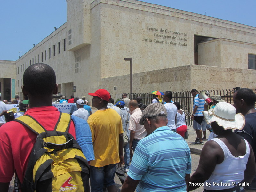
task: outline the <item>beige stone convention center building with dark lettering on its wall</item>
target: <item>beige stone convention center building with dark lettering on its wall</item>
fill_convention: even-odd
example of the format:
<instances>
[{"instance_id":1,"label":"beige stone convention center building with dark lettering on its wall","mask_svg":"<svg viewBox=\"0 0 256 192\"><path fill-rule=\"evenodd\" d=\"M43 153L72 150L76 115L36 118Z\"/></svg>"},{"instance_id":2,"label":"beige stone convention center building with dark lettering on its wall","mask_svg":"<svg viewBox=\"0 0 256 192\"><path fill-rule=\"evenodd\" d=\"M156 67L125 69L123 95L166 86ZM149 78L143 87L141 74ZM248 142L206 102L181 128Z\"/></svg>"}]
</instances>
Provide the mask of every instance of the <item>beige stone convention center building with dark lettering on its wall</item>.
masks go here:
<instances>
[{"instance_id":1,"label":"beige stone convention center building with dark lettering on its wall","mask_svg":"<svg viewBox=\"0 0 256 192\"><path fill-rule=\"evenodd\" d=\"M24 69L43 62L67 98L105 88L116 99L130 92L131 57L133 93L256 88L255 55L255 27L136 0L67 0L67 22L9 78L21 94Z\"/></svg>"}]
</instances>

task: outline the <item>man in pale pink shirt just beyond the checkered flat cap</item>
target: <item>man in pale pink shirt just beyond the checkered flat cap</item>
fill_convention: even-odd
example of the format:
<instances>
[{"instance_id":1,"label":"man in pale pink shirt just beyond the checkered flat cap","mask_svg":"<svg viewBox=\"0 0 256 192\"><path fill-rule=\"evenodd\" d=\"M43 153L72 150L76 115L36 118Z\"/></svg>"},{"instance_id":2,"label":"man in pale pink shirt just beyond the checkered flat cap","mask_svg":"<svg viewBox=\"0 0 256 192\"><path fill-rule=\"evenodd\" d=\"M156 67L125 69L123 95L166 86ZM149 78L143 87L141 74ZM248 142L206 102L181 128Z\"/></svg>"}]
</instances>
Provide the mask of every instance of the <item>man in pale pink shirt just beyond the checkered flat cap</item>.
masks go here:
<instances>
[{"instance_id":1,"label":"man in pale pink shirt just beyond the checkered flat cap","mask_svg":"<svg viewBox=\"0 0 256 192\"><path fill-rule=\"evenodd\" d=\"M139 124L142 112L136 100L131 100L129 102L129 109L132 113L132 115L130 116L130 122L129 122L129 130L131 131L130 132L130 149L133 149L133 151L135 151L135 148L138 142L144 137L146 137L147 131L145 130L144 125Z\"/></svg>"}]
</instances>

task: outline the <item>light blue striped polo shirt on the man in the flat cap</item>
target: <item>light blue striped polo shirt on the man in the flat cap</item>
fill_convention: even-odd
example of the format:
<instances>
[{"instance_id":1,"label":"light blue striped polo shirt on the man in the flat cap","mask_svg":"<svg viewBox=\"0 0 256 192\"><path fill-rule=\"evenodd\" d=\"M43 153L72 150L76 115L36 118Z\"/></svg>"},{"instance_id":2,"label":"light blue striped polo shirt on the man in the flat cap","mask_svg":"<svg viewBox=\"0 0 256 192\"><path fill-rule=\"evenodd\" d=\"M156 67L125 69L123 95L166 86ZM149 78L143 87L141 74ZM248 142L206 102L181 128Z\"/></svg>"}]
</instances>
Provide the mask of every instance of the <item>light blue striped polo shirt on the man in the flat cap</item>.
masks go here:
<instances>
[{"instance_id":1,"label":"light blue striped polo shirt on the man in the flat cap","mask_svg":"<svg viewBox=\"0 0 256 192\"><path fill-rule=\"evenodd\" d=\"M185 192L185 174L190 173L188 144L179 134L164 126L139 141L127 174L140 180L137 192Z\"/></svg>"}]
</instances>

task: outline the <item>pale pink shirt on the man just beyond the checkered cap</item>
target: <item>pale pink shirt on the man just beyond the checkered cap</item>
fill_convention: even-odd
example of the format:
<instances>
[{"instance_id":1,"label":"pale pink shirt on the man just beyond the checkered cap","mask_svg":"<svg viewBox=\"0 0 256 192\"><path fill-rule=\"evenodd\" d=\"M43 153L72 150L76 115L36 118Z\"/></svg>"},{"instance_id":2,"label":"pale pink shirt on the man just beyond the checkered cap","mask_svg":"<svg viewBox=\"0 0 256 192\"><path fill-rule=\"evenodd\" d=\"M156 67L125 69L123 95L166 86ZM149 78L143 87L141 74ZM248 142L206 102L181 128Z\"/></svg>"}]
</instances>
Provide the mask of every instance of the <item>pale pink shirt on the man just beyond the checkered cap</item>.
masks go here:
<instances>
[{"instance_id":1,"label":"pale pink shirt on the man just beyond the checkered cap","mask_svg":"<svg viewBox=\"0 0 256 192\"><path fill-rule=\"evenodd\" d=\"M140 108L134 109L129 121L129 130L135 131L134 139L139 140L143 139L147 135L144 125L139 124L141 116L142 112Z\"/></svg>"}]
</instances>

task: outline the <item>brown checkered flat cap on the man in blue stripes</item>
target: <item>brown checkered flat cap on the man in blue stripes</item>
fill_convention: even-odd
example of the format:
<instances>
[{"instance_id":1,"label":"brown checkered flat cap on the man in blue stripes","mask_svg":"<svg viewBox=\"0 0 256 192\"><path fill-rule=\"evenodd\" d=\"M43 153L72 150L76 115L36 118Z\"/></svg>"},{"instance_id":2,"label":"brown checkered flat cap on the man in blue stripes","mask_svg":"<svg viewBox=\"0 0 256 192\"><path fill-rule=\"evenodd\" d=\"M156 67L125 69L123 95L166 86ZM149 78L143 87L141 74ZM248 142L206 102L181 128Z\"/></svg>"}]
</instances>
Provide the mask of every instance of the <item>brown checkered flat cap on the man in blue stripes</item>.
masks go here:
<instances>
[{"instance_id":1,"label":"brown checkered flat cap on the man in blue stripes","mask_svg":"<svg viewBox=\"0 0 256 192\"><path fill-rule=\"evenodd\" d=\"M152 103L148 105L142 112L142 116L140 118L139 123L143 125L144 119L155 116L167 116L166 108L162 103Z\"/></svg>"}]
</instances>

